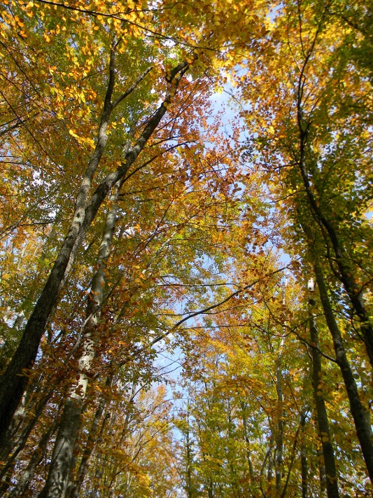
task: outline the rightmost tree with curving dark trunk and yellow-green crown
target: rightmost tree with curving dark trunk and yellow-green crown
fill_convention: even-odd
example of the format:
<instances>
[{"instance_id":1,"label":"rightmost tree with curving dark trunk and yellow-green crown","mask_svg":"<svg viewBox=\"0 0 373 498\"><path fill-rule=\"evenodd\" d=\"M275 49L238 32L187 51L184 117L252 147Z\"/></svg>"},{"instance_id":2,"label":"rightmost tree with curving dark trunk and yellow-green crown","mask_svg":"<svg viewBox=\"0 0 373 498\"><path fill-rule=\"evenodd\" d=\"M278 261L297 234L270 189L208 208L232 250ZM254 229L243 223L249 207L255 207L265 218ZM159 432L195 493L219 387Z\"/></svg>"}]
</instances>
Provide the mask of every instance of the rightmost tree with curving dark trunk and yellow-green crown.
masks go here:
<instances>
[{"instance_id":1,"label":"rightmost tree with curving dark trunk and yellow-green crown","mask_svg":"<svg viewBox=\"0 0 373 498\"><path fill-rule=\"evenodd\" d=\"M372 237L365 217L370 202L366 183L371 174L366 154L369 133L363 133L361 141L356 139L360 135L358 123L370 119L371 91L367 67L356 64L351 23L343 14L337 14L339 7L331 7L328 2L298 2L279 9L269 25L271 40L263 43L272 80L268 78L262 88L244 83L242 91L244 96L257 92L257 99L258 92L265 96L248 118L251 132L257 134L253 141L260 144L259 161L265 164L267 174L270 172L279 182L274 191L281 202L285 200L283 212L290 219L292 243L298 246L295 251L302 255L305 268L307 261L311 262L323 288L319 290L335 345L335 359L344 375L372 479L370 424L365 424L366 408L351 366L356 358L351 344L355 339L351 333L342 338L342 325L338 324L325 284L325 279L332 282L335 306L346 320L351 320L356 338L372 364L371 268L370 261L359 254L362 247L362 254L370 254ZM356 9L365 11L358 4ZM288 41L283 44L285 33ZM363 44L367 39L359 33L358 43ZM284 57L292 61L286 70ZM357 78L360 85L353 83ZM275 99L275 95L281 98ZM346 348L353 354L352 360Z\"/></svg>"}]
</instances>

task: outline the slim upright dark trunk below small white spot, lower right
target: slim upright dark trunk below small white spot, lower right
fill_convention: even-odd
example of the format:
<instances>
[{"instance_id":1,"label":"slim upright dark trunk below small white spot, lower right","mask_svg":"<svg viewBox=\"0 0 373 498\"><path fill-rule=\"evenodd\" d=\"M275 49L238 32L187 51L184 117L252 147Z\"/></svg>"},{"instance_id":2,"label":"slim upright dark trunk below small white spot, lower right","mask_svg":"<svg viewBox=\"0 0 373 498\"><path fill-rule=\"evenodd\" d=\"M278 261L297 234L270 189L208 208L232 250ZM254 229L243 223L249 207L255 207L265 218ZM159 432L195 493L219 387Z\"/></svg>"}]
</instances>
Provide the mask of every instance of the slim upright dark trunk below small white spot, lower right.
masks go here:
<instances>
[{"instance_id":1,"label":"slim upright dark trunk below small white spot, lower right","mask_svg":"<svg viewBox=\"0 0 373 498\"><path fill-rule=\"evenodd\" d=\"M312 300L309 300L311 307ZM326 411L325 401L323 398L323 380L321 370L321 354L318 350L318 331L316 328L315 318L310 310L309 314L309 331L311 336L311 355L312 355L312 385L314 387L314 399L316 406L316 420L318 426L318 435L323 448L323 457L326 473L326 491L328 498L339 498L337 469L335 467L335 454L332 441L330 438L328 413Z\"/></svg>"}]
</instances>

